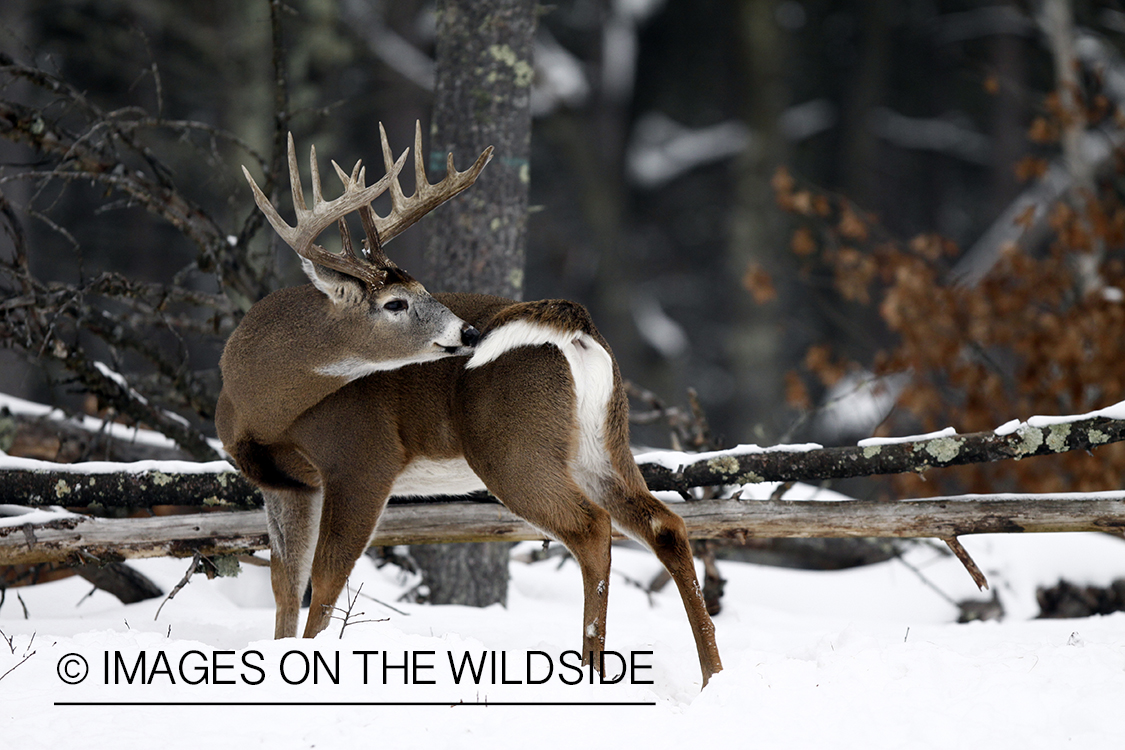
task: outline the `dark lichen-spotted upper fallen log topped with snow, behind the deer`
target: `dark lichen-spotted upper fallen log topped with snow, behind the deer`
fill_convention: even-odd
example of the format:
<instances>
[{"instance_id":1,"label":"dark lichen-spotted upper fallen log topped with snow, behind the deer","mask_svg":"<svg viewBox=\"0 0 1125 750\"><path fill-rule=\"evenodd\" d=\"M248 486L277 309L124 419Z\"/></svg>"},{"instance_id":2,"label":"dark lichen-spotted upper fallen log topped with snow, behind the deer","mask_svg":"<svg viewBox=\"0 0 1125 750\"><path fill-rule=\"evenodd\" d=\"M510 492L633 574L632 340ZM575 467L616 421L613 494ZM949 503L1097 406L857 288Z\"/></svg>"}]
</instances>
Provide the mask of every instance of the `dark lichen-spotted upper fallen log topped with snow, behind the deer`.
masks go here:
<instances>
[{"instance_id":1,"label":"dark lichen-spotted upper fallen log topped with snow, behind the deer","mask_svg":"<svg viewBox=\"0 0 1125 750\"><path fill-rule=\"evenodd\" d=\"M637 457L652 490L763 481L818 481L1092 451L1125 440L1125 404L1065 417L1032 417L991 432L952 430L915 437L871 439L846 448L741 445L711 453L654 451ZM0 457L0 503L89 508L183 505L245 509L261 496L230 463L137 461L60 464Z\"/></svg>"}]
</instances>

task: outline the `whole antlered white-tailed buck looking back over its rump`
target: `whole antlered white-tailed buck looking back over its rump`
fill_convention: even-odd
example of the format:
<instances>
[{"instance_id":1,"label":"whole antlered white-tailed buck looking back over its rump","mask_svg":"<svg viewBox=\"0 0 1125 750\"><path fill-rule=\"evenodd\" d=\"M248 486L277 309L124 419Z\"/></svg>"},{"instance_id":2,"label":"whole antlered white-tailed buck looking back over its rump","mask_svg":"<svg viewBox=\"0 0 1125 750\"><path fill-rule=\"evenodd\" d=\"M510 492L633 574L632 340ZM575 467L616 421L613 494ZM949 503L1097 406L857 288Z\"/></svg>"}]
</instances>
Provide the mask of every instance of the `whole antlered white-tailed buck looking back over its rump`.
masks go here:
<instances>
[{"instance_id":1,"label":"whole antlered white-tailed buck looking back over its rump","mask_svg":"<svg viewBox=\"0 0 1125 750\"><path fill-rule=\"evenodd\" d=\"M364 187L359 162L351 174L332 162L344 188L331 201L310 150L312 208L290 135L294 226L243 168L310 282L254 304L220 359L215 424L266 501L274 638L296 636L309 581L304 636L327 626L390 496L487 490L577 561L584 663L605 649L613 527L655 552L683 600L705 686L722 669L714 625L684 522L649 493L630 451L629 404L609 343L578 304L431 296L395 265L384 244L472 184L492 147L465 172L449 154L447 177L431 184L416 126L416 188L406 198L398 173L407 152L394 161L379 130L385 177ZM371 201L384 192L392 209L380 217ZM344 220L353 211L366 234L361 253ZM341 253L315 244L333 223Z\"/></svg>"}]
</instances>

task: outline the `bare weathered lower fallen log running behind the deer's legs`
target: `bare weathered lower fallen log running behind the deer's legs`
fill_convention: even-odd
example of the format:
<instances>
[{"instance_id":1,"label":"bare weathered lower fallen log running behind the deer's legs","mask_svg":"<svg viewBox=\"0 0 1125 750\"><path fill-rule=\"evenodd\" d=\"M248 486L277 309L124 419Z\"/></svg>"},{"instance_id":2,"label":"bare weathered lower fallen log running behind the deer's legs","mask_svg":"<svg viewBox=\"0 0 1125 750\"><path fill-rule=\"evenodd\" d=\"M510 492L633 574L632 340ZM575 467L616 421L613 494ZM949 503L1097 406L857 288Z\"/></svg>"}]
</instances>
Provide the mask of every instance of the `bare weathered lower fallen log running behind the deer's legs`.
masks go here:
<instances>
[{"instance_id":1,"label":"bare weathered lower fallen log running behind the deer's legs","mask_svg":"<svg viewBox=\"0 0 1125 750\"><path fill-rule=\"evenodd\" d=\"M897 536L1101 531L1125 534L1125 493L976 495L871 500L698 500L675 503L692 539ZM52 516L57 517L52 517ZM151 518L37 513L0 525L0 564L108 562L145 557L244 554L267 549L263 510ZM494 503L390 505L372 544L515 542L542 532Z\"/></svg>"}]
</instances>

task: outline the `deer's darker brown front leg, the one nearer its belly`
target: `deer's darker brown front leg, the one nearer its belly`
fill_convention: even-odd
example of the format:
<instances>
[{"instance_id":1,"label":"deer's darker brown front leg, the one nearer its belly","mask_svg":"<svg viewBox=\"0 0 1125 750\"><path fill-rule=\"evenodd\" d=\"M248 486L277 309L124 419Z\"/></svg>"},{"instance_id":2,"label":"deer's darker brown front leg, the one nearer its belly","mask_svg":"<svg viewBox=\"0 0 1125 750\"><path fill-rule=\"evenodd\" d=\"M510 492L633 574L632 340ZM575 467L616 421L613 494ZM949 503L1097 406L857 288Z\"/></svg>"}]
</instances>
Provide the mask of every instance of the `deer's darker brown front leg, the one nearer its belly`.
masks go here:
<instances>
[{"instance_id":1,"label":"deer's darker brown front leg, the one nearer its belly","mask_svg":"<svg viewBox=\"0 0 1125 750\"><path fill-rule=\"evenodd\" d=\"M356 479L325 482L324 509L312 560L313 599L305 638L313 638L328 626L348 576L375 534L390 485L390 479L374 485Z\"/></svg>"}]
</instances>

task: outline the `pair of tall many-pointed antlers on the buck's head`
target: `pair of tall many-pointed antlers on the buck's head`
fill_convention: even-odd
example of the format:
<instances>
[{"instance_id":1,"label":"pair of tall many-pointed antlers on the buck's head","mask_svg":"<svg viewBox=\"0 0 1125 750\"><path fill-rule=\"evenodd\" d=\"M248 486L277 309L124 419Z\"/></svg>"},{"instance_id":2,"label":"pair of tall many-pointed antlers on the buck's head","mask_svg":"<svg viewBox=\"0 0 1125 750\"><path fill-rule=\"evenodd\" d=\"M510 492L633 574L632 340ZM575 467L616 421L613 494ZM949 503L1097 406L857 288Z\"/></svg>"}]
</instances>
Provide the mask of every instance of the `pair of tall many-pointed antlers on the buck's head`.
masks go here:
<instances>
[{"instance_id":1,"label":"pair of tall many-pointed antlers on the buck's head","mask_svg":"<svg viewBox=\"0 0 1125 750\"><path fill-rule=\"evenodd\" d=\"M245 166L242 168L242 172L246 175L246 181L254 192L254 202L258 204L258 208L266 215L270 226L298 255L320 265L358 278L371 288L381 287L387 278L386 269L395 268L395 264L382 252L382 245L476 182L480 170L492 159L493 153L492 146L485 148L484 153L477 157L476 163L465 172L458 172L453 168L453 155L449 154L446 179L438 184L430 184L422 164L422 126L415 123L414 174L416 187L414 195L406 198L398 183L398 173L402 171L403 164L406 163L406 154L410 150L404 151L402 156L394 161L390 146L387 143L387 133L382 129L381 123L379 124L379 139L382 144L382 161L387 170L382 179L370 187L364 187L366 168L361 166L361 162L356 162L350 175L339 164L332 162L336 175L344 186L344 192L335 200L328 201L324 200L321 189L321 174L316 165L316 147L312 147L309 150L309 168L313 177L313 207L308 208L305 205L305 193L300 187L297 151L294 146L292 134L289 134L289 183L292 188L294 210L297 214L296 226L289 226L281 218L266 193L254 182L250 171ZM380 217L371 208L371 201L386 192L388 188L390 189L390 214ZM352 249L351 235L344 222L344 216L354 210L360 213L363 231L367 234L364 256L357 255ZM333 222L340 226L344 250L342 254L330 253L315 244L320 234Z\"/></svg>"}]
</instances>

